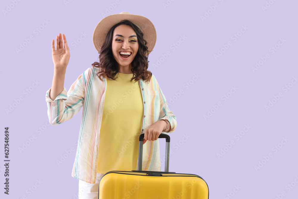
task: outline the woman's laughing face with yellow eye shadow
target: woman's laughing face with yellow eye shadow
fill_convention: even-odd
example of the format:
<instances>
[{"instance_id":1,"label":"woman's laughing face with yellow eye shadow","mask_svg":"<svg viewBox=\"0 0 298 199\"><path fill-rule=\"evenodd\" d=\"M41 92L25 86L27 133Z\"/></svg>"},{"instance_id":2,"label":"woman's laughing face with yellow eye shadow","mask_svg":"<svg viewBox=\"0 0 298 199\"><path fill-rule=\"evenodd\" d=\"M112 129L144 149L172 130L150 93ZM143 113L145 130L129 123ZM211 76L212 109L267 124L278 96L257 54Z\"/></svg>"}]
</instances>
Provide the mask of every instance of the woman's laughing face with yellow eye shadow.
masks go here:
<instances>
[{"instance_id":1,"label":"woman's laughing face with yellow eye shadow","mask_svg":"<svg viewBox=\"0 0 298 199\"><path fill-rule=\"evenodd\" d=\"M119 64L119 67L123 67L124 70L130 71L132 68L131 62L134 60L138 50L139 42L134 29L128 25L117 26L114 29L112 38L112 52L114 58ZM128 56L127 58L124 58L120 55L120 52L130 52L130 55L122 55L125 57Z\"/></svg>"}]
</instances>

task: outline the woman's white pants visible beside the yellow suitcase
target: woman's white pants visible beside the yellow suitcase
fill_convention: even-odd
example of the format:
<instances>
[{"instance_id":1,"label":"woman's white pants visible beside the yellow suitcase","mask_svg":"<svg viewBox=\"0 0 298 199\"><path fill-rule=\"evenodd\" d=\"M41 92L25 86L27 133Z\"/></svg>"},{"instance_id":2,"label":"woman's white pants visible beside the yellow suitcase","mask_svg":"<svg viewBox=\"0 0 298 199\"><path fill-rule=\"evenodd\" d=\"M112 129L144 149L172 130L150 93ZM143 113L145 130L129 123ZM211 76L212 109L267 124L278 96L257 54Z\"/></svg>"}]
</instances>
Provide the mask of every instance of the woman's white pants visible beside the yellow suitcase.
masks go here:
<instances>
[{"instance_id":1,"label":"woman's white pants visible beside the yellow suitcase","mask_svg":"<svg viewBox=\"0 0 298 199\"><path fill-rule=\"evenodd\" d=\"M98 199L98 186L103 173L96 174L95 184L79 180L79 199Z\"/></svg>"}]
</instances>

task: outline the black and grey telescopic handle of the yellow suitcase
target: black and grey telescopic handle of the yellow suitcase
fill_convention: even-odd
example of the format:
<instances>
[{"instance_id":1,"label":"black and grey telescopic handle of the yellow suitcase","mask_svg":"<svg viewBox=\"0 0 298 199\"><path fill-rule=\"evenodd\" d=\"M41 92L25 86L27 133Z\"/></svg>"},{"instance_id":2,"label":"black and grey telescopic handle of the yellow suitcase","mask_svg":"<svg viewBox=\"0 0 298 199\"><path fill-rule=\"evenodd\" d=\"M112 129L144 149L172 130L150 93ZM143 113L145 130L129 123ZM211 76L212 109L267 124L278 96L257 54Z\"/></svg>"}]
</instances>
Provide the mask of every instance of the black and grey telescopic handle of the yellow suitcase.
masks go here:
<instances>
[{"instance_id":1,"label":"black and grey telescopic handle of the yellow suitcase","mask_svg":"<svg viewBox=\"0 0 298 199\"><path fill-rule=\"evenodd\" d=\"M142 171L142 161L143 161L143 140L145 134L142 133L139 137L139 164L138 164L138 171ZM164 163L164 171L169 172L169 157L170 157L170 136L164 133L161 133L158 138L166 138L166 156L165 156L165 163Z\"/></svg>"}]
</instances>

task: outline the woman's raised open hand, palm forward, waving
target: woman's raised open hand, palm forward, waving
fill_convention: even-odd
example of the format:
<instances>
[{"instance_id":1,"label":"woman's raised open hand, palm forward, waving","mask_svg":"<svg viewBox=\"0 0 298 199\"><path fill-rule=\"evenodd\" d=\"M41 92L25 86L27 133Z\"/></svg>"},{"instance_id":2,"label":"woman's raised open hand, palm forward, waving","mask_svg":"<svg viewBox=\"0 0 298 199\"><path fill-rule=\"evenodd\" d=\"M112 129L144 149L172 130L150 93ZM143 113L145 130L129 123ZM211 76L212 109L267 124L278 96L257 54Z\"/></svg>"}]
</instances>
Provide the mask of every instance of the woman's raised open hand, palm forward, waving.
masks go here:
<instances>
[{"instance_id":1,"label":"woman's raised open hand, palm forward, waving","mask_svg":"<svg viewBox=\"0 0 298 199\"><path fill-rule=\"evenodd\" d=\"M63 38L63 40L62 40ZM52 40L52 58L54 67L56 70L66 71L66 67L69 62L70 53L69 47L67 45L66 36L59 33L59 36L56 37L56 48L55 50L55 40Z\"/></svg>"}]
</instances>

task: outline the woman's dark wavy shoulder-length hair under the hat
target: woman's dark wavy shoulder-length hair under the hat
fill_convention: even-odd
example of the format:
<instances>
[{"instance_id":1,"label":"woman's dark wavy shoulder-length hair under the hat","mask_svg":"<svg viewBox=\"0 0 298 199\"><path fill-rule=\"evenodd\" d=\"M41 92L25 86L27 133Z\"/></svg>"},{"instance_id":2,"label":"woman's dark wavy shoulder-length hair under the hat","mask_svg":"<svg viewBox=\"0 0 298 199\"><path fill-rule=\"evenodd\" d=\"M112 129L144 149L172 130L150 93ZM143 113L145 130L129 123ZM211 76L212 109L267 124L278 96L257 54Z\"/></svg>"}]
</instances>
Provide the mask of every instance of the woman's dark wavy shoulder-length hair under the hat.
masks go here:
<instances>
[{"instance_id":1,"label":"woman's dark wavy shoulder-length hair under the hat","mask_svg":"<svg viewBox=\"0 0 298 199\"><path fill-rule=\"evenodd\" d=\"M147 47L147 41L143 38L142 30L137 27L135 24L133 24L131 21L128 20L122 20L118 24L115 24L111 29L109 30L107 36L105 37L105 42L103 43L103 46L98 52L99 60L94 62L92 65L93 68L100 68L101 71L97 73L97 76L101 81L103 81L100 77L103 76L105 78L111 78L113 80L116 80L115 75L119 72L119 64L115 60L113 53L112 53L112 38L114 30L119 25L128 25L134 29L136 32L137 40L139 43L139 50L134 58L134 60L131 62L132 69L131 72L133 73L133 77L131 78L131 81L135 79L136 81L139 81L141 78L146 81L150 81L152 73L148 71L148 47ZM150 51L151 52L151 51Z\"/></svg>"}]
</instances>

